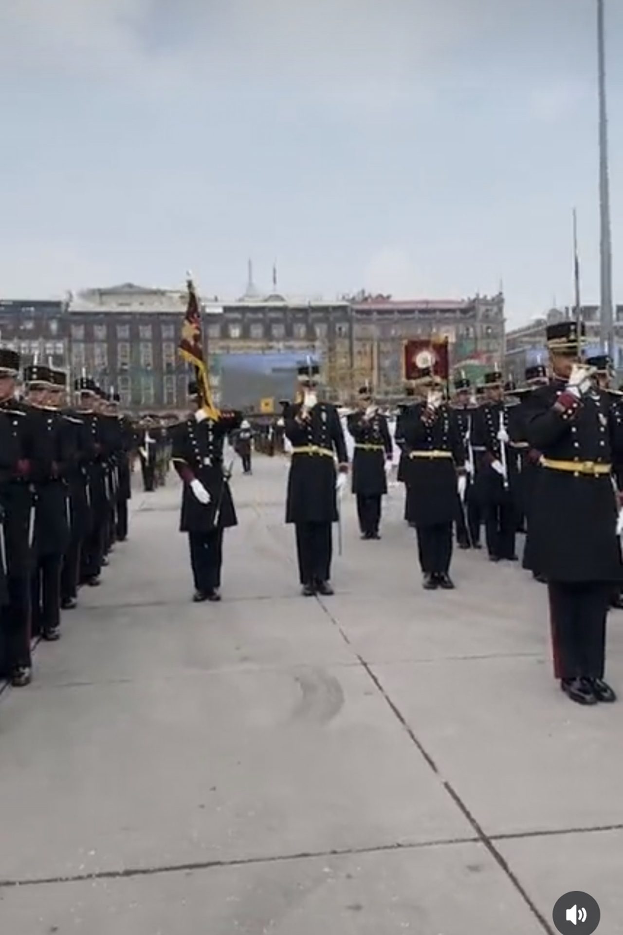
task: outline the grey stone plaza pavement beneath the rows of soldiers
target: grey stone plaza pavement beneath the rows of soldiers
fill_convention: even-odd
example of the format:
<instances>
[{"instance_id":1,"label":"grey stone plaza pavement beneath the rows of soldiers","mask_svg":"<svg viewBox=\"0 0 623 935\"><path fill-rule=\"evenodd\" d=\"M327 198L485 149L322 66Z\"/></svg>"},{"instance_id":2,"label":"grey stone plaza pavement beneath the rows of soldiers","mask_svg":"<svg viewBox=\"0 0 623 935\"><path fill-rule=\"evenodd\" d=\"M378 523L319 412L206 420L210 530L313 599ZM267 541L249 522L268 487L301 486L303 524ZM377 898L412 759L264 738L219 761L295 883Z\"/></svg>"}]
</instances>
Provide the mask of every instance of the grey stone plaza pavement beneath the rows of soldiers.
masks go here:
<instances>
[{"instance_id":1,"label":"grey stone plaza pavement beneath the rows of soldiers","mask_svg":"<svg viewBox=\"0 0 623 935\"><path fill-rule=\"evenodd\" d=\"M460 553L459 589L423 592L396 487L381 542L347 497L337 593L305 600L285 482L235 476L216 606L177 482L135 496L0 698L0 931L538 935L583 889L623 933L623 707L563 698L545 588ZM623 690L619 613L608 671Z\"/></svg>"}]
</instances>

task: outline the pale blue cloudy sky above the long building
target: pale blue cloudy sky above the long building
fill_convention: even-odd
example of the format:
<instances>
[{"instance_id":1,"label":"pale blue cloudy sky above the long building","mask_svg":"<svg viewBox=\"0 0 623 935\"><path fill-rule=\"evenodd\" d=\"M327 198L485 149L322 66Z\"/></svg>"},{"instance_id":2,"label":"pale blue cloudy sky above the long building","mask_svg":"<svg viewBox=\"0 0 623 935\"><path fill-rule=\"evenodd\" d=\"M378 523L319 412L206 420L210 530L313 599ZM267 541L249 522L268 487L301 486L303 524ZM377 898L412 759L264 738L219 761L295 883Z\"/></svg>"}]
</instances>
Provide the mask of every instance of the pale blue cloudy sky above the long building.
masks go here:
<instances>
[{"instance_id":1,"label":"pale blue cloudy sky above the long building","mask_svg":"<svg viewBox=\"0 0 623 935\"><path fill-rule=\"evenodd\" d=\"M606 0L623 302L623 4ZM0 297L599 300L595 0L0 0Z\"/></svg>"}]
</instances>

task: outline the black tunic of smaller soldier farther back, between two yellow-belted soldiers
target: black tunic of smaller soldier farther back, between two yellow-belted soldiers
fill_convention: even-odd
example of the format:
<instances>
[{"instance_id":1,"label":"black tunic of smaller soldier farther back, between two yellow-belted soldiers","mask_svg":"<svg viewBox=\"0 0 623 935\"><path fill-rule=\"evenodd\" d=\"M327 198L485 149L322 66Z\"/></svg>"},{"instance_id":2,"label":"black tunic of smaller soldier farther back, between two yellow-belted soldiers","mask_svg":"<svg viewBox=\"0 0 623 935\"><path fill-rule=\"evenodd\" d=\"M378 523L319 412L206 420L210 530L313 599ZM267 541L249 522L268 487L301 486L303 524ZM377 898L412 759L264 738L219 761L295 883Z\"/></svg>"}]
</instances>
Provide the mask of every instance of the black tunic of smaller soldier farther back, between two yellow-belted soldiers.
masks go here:
<instances>
[{"instance_id":1,"label":"black tunic of smaller soldier farther back, between two yellow-belted soldiers","mask_svg":"<svg viewBox=\"0 0 623 935\"><path fill-rule=\"evenodd\" d=\"M353 412L347 419L348 431L355 441L352 467L352 492L361 496L381 496L388 492L385 462L393 448L388 421L380 412L371 419Z\"/></svg>"}]
</instances>

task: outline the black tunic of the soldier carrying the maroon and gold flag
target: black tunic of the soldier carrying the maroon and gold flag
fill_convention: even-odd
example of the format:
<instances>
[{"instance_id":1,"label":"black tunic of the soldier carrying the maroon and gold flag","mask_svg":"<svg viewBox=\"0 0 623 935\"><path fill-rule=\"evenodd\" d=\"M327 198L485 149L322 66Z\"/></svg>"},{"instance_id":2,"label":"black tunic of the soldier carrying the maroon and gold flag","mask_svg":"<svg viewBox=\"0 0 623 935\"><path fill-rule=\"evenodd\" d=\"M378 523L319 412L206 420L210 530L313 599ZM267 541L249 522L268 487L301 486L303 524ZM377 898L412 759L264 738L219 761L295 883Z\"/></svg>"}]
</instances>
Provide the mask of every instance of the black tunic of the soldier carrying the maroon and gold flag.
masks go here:
<instances>
[{"instance_id":1,"label":"black tunic of the soldier carrying the maroon and gold flag","mask_svg":"<svg viewBox=\"0 0 623 935\"><path fill-rule=\"evenodd\" d=\"M173 464L184 482L180 532L212 532L237 525L234 500L223 470L223 444L242 422L240 412L221 412L218 421L197 422L192 415L171 429ZM211 496L201 503L192 493L191 482L201 481Z\"/></svg>"}]
</instances>

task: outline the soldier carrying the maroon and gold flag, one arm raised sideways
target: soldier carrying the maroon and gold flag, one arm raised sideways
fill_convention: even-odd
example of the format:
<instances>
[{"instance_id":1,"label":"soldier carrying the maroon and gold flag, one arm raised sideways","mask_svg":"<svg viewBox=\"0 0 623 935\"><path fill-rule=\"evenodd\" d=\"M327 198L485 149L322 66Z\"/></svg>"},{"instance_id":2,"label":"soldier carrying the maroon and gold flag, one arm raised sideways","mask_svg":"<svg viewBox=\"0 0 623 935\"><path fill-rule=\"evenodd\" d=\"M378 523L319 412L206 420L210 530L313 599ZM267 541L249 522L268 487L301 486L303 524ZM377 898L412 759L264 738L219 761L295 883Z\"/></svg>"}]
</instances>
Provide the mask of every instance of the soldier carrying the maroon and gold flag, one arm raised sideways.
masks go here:
<instances>
[{"instance_id":1,"label":"soldier carrying the maroon and gold flag, one arm raised sideways","mask_svg":"<svg viewBox=\"0 0 623 935\"><path fill-rule=\"evenodd\" d=\"M173 464L184 483L179 528L189 537L192 599L218 601L223 529L237 525L223 445L242 422L242 414L221 411L214 421L201 407L196 383L189 385L189 396L197 400L197 410L171 429Z\"/></svg>"}]
</instances>

